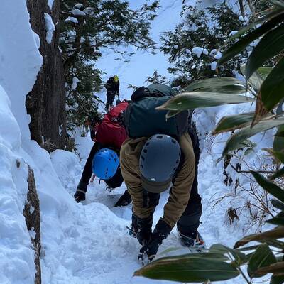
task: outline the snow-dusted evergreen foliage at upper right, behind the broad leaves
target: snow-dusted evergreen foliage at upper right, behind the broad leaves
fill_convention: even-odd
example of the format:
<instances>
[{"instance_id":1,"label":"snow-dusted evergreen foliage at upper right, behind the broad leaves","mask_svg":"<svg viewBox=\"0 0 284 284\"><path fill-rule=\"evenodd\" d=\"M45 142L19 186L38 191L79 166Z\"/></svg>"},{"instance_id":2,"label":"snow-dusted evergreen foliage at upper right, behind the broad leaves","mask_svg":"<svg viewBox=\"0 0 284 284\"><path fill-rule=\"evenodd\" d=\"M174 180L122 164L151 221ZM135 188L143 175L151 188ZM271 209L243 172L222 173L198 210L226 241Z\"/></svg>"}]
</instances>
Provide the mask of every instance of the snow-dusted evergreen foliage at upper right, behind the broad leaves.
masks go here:
<instances>
[{"instance_id":1,"label":"snow-dusted evergreen foliage at upper right, behind the broad leaves","mask_svg":"<svg viewBox=\"0 0 284 284\"><path fill-rule=\"evenodd\" d=\"M226 48L229 33L239 31L243 26L239 14L228 6L227 1L205 10L185 6L182 16L182 23L161 38L163 45L160 50L169 55L169 61L174 64L169 72L178 77L173 82L174 86L185 87L193 80L213 76L232 76L232 70L239 70L242 64L240 56L220 67L218 72L210 67L212 62L217 61L214 58L217 50ZM205 49L200 58L192 54L191 50L195 47Z\"/></svg>"}]
</instances>

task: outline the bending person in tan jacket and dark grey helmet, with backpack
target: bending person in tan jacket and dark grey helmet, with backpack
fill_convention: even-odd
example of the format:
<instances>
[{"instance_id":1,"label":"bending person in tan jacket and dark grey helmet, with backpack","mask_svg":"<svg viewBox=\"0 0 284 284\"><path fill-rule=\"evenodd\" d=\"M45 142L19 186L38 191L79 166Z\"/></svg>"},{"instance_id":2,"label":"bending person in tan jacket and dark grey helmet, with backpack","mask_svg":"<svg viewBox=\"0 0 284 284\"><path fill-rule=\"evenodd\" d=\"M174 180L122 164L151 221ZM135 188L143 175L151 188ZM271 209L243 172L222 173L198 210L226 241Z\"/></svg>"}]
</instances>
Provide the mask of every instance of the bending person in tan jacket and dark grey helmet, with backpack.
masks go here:
<instances>
[{"instance_id":1,"label":"bending person in tan jacket and dark grey helmet, with backpack","mask_svg":"<svg viewBox=\"0 0 284 284\"><path fill-rule=\"evenodd\" d=\"M155 109L173 95L165 85L141 87L133 93L133 102L124 114L129 138L121 146L120 163L133 202L131 232L142 246L138 258L149 261L175 224L183 245L204 247L197 231L202 214L197 188L197 133L188 124L187 111L165 121L166 111ZM170 196L163 217L152 232L160 193L168 189Z\"/></svg>"}]
</instances>

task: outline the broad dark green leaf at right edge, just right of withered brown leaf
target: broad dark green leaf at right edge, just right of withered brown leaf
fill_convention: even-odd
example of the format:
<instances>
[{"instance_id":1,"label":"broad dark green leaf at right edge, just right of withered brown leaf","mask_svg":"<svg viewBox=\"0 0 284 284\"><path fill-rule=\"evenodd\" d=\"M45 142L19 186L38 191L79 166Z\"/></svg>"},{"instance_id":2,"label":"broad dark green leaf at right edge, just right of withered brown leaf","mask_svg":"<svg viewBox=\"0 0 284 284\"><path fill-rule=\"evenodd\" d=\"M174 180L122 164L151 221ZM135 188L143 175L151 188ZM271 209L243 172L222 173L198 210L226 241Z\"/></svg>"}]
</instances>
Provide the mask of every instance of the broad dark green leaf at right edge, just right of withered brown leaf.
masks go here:
<instances>
[{"instance_id":1,"label":"broad dark green leaf at right edge, just right of withered brown leaf","mask_svg":"<svg viewBox=\"0 0 284 284\"><path fill-rule=\"evenodd\" d=\"M266 80L264 80L261 85L260 96L261 102L267 111L271 111L284 98L284 58L278 61Z\"/></svg>"}]
</instances>

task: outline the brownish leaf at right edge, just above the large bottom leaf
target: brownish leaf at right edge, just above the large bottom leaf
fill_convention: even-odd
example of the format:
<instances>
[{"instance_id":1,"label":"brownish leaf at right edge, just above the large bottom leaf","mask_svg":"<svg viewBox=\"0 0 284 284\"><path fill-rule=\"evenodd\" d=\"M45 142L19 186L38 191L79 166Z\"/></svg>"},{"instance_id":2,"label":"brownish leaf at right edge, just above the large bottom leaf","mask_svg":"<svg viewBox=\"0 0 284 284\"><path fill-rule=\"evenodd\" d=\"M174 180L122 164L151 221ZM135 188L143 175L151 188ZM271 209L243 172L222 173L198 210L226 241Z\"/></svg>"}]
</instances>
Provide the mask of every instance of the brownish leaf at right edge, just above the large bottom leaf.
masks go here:
<instances>
[{"instance_id":1,"label":"brownish leaf at right edge, just above the large bottom leaf","mask_svg":"<svg viewBox=\"0 0 284 284\"><path fill-rule=\"evenodd\" d=\"M239 248L239 246L244 246L245 244L248 244L250 241L265 241L269 245L274 245L273 242L277 241L275 239L280 239L284 237L284 228L282 226L278 226L275 229L272 229L270 231L265 231L261 234L251 234L249 236L244 236L243 239L240 239L236 242L234 245L234 249ZM276 247L282 248L282 244L279 241L275 243Z\"/></svg>"}]
</instances>

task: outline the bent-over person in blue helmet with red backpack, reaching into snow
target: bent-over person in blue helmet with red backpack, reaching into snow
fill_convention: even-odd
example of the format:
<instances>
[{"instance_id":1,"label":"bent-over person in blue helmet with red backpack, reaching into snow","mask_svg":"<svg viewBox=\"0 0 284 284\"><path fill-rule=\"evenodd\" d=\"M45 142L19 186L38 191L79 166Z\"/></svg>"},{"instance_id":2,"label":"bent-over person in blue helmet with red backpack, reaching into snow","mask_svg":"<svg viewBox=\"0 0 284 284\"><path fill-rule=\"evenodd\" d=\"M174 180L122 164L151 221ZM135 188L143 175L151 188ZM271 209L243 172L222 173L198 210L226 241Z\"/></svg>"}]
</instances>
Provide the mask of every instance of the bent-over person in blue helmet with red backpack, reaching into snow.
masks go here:
<instances>
[{"instance_id":1,"label":"bent-over person in blue helmet with red backpack, reaching into snow","mask_svg":"<svg viewBox=\"0 0 284 284\"><path fill-rule=\"evenodd\" d=\"M119 115L121 111L126 109L127 105L127 102L121 102L108 114L105 114L104 119L97 118L87 121L88 125L92 124L91 137L94 146L92 146L80 182L77 185L74 195L77 202L85 200L87 186L92 174L100 180L104 180L107 187L111 189L120 187L124 182L119 166L119 150L127 136L124 126L121 126L119 122ZM130 202L131 196L126 190L114 207L126 206Z\"/></svg>"}]
</instances>

